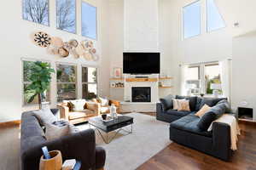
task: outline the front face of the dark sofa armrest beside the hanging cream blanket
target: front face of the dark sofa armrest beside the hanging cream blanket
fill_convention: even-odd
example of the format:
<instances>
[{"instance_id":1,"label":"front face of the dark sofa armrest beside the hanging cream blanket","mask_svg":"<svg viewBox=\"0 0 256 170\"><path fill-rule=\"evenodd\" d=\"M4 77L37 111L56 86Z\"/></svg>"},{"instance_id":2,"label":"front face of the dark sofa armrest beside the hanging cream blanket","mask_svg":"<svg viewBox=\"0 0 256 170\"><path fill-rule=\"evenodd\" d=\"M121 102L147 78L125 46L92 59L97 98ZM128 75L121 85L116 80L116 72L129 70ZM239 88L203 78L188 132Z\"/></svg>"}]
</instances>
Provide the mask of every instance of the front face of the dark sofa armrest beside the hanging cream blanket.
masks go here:
<instances>
[{"instance_id":1,"label":"front face of the dark sofa armrest beside the hanging cream blanket","mask_svg":"<svg viewBox=\"0 0 256 170\"><path fill-rule=\"evenodd\" d=\"M230 125L223 122L212 122L212 146L218 156L228 161L231 156Z\"/></svg>"}]
</instances>

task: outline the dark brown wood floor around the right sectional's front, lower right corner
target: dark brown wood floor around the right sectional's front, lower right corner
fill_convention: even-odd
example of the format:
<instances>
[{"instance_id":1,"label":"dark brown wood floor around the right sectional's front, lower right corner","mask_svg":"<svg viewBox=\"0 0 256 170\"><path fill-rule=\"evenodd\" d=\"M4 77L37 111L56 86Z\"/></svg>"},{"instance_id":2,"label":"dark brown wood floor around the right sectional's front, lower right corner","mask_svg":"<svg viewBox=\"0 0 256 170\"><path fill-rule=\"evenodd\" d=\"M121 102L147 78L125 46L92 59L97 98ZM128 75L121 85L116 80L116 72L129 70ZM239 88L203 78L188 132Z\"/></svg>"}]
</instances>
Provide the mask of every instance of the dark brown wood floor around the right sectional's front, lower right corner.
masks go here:
<instances>
[{"instance_id":1,"label":"dark brown wood floor around the right sectional's front, lower right corner","mask_svg":"<svg viewBox=\"0 0 256 170\"><path fill-rule=\"evenodd\" d=\"M230 162L172 143L137 170L256 170L256 125L240 123L238 150Z\"/></svg>"}]
</instances>

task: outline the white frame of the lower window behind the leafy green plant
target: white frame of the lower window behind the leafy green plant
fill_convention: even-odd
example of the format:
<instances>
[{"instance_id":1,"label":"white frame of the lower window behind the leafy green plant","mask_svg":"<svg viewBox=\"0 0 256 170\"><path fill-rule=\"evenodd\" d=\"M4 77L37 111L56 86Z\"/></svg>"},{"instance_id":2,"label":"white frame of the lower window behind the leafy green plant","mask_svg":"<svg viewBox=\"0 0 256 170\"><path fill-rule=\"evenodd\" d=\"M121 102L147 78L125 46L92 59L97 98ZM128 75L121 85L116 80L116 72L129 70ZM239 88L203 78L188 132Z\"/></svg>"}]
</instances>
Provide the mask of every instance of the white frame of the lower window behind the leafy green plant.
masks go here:
<instances>
[{"instance_id":1,"label":"white frame of the lower window behind the leafy green plant","mask_svg":"<svg viewBox=\"0 0 256 170\"><path fill-rule=\"evenodd\" d=\"M46 60L46 59L33 59L33 58L21 58L20 61L21 61L21 82L22 82L22 85L21 85L22 105L21 106L28 107L28 106L38 105L38 104L25 104L24 87L25 87L25 84L28 84L29 82L24 81L24 61L31 61L31 62L41 61L41 62L47 62L50 65L51 65L51 62L50 62L50 60ZM46 101L46 102L49 102L49 105L51 104L51 98L50 98L51 89L50 88L51 88L51 82L49 83L49 101Z\"/></svg>"}]
</instances>

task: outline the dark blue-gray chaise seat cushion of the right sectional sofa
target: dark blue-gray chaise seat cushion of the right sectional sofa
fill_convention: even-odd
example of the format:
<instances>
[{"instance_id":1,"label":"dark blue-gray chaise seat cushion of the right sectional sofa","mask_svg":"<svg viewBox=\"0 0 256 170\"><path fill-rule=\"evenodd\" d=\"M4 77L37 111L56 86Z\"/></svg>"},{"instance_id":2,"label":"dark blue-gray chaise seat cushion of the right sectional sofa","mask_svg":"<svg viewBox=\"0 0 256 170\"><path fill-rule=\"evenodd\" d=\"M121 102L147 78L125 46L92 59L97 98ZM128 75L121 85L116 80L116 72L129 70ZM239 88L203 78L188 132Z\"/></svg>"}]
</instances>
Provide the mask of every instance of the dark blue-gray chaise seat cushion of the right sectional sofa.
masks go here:
<instances>
[{"instance_id":1,"label":"dark blue-gray chaise seat cushion of the right sectional sofa","mask_svg":"<svg viewBox=\"0 0 256 170\"><path fill-rule=\"evenodd\" d=\"M196 133L203 136L211 137L212 132L203 131L197 126L197 123L199 121L200 121L200 118L198 116L189 114L188 116L183 116L177 121L172 122L170 126L177 128L179 130L187 131L189 133Z\"/></svg>"}]
</instances>

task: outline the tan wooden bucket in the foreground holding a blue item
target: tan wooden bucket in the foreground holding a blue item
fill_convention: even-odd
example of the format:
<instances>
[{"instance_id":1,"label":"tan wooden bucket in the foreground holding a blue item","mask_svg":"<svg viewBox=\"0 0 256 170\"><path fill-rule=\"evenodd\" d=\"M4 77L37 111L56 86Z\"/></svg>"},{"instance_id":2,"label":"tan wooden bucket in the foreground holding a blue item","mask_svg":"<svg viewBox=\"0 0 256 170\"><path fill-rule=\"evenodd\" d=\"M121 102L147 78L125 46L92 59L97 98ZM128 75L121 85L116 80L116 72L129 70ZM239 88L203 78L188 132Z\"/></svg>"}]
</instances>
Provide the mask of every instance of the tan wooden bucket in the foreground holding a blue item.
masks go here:
<instances>
[{"instance_id":1,"label":"tan wooden bucket in the foreground holding a blue item","mask_svg":"<svg viewBox=\"0 0 256 170\"><path fill-rule=\"evenodd\" d=\"M50 159L44 159L41 156L39 170L61 170L62 169L62 156L61 151L53 150L49 152Z\"/></svg>"}]
</instances>

